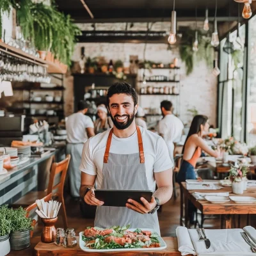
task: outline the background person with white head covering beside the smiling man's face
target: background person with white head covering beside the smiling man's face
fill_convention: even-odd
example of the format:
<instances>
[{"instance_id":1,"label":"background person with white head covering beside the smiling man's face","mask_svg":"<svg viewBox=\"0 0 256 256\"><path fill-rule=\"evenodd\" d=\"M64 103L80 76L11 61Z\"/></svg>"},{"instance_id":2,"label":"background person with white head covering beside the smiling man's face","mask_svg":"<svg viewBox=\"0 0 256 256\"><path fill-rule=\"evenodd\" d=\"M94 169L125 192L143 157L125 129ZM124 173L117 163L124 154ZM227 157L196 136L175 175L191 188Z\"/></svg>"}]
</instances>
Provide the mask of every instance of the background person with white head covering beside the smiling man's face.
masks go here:
<instances>
[{"instance_id":1,"label":"background person with white head covering beside the smiling man's face","mask_svg":"<svg viewBox=\"0 0 256 256\"><path fill-rule=\"evenodd\" d=\"M99 116L99 118L97 118L94 123L95 134L107 131L108 129L113 127L111 117L108 116L108 109L104 104L100 104L97 107L97 115Z\"/></svg>"}]
</instances>

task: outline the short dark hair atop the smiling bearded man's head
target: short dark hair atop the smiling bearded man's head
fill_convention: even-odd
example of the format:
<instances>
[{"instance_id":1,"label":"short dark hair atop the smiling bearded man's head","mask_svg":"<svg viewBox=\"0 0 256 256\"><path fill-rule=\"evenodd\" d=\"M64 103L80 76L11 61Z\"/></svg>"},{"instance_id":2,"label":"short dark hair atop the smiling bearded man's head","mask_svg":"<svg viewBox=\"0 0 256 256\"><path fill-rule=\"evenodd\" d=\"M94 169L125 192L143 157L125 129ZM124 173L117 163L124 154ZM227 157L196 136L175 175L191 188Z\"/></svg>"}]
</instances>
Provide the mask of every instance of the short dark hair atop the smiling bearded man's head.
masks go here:
<instances>
[{"instance_id":1,"label":"short dark hair atop the smiling bearded man's head","mask_svg":"<svg viewBox=\"0 0 256 256\"><path fill-rule=\"evenodd\" d=\"M134 106L138 103L138 95L134 88L131 86L131 84L122 82L122 83L115 83L112 84L109 89L108 89L108 94L107 94L107 102L109 106L109 98L112 97L114 94L120 94L120 93L125 93L129 96L132 97Z\"/></svg>"}]
</instances>

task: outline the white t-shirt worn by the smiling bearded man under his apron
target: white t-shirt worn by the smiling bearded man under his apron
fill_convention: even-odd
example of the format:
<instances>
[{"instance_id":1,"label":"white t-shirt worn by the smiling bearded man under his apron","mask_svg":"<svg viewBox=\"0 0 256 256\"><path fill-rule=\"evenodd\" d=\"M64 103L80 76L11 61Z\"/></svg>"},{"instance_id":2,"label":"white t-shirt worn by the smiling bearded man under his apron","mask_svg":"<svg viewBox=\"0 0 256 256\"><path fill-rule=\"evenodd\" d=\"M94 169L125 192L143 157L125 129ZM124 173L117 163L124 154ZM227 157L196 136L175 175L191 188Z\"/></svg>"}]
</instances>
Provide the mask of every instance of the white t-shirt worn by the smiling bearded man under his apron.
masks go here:
<instances>
[{"instance_id":1,"label":"white t-shirt worn by the smiling bearded man under his apron","mask_svg":"<svg viewBox=\"0 0 256 256\"><path fill-rule=\"evenodd\" d=\"M140 130L145 154L148 188L155 191L156 181L154 179L154 172L163 172L168 170L173 167L173 164L163 138L154 132L143 129L142 127L140 127ZM97 175L96 182L97 188L99 189L102 186L103 158L109 131L110 130L97 134L84 143L82 160L79 166L79 170L81 170L81 172L85 172L90 175ZM138 153L139 146L137 131L128 138L118 138L113 134L109 152L113 154Z\"/></svg>"}]
</instances>

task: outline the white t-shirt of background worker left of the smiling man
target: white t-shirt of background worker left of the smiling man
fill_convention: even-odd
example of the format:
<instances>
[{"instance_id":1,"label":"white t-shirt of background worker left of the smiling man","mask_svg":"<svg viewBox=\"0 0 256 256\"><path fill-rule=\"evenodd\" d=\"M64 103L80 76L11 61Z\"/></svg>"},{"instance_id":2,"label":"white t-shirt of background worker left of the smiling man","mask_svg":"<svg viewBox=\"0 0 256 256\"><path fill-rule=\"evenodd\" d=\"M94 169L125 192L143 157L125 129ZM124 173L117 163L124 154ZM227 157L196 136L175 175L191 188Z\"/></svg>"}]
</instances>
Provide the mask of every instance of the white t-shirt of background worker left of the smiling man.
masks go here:
<instances>
[{"instance_id":1,"label":"white t-shirt of background worker left of the smiling man","mask_svg":"<svg viewBox=\"0 0 256 256\"><path fill-rule=\"evenodd\" d=\"M67 141L68 143L84 143L88 140L86 128L93 128L92 119L83 113L74 113L67 118Z\"/></svg>"}]
</instances>

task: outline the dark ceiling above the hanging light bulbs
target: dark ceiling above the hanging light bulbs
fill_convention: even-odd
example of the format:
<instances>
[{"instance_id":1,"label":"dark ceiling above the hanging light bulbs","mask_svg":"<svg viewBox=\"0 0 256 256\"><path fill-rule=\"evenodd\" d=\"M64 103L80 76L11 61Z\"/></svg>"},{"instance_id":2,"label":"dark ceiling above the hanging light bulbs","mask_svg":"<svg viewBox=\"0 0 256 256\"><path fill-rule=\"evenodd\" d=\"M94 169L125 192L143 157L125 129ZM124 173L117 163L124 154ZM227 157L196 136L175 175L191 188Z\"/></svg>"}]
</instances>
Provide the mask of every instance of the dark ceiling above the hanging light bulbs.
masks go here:
<instances>
[{"instance_id":1,"label":"dark ceiling above the hanging light bulbs","mask_svg":"<svg viewBox=\"0 0 256 256\"><path fill-rule=\"evenodd\" d=\"M82 0L83 1L83 0ZM93 13L92 20L81 0L56 0L59 10L68 13L76 22L136 22L170 20L173 0L84 0ZM233 0L218 0L219 20L237 17L238 5ZM176 0L177 20L195 20L195 7L198 8L198 20L204 18L205 7L209 7L209 17L214 16L214 0ZM243 4L240 4L243 8ZM241 12L239 12L241 13ZM211 19L210 19L211 20Z\"/></svg>"}]
</instances>

